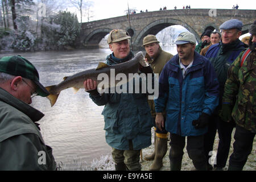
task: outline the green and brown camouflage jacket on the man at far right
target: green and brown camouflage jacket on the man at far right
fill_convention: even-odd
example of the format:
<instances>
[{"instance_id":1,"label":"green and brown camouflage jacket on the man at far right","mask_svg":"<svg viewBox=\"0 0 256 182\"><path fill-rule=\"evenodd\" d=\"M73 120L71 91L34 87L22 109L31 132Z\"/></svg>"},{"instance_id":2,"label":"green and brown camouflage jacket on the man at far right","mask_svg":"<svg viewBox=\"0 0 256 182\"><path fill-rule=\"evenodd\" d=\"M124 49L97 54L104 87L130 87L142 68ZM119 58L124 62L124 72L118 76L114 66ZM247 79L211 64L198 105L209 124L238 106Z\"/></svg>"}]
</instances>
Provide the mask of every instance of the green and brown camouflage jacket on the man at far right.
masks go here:
<instances>
[{"instance_id":1,"label":"green and brown camouflage jacket on the man at far right","mask_svg":"<svg viewBox=\"0 0 256 182\"><path fill-rule=\"evenodd\" d=\"M234 104L232 117L238 126L255 133L256 52L251 52L241 67L242 51L228 70L223 103Z\"/></svg>"}]
</instances>

